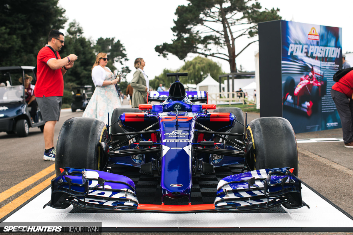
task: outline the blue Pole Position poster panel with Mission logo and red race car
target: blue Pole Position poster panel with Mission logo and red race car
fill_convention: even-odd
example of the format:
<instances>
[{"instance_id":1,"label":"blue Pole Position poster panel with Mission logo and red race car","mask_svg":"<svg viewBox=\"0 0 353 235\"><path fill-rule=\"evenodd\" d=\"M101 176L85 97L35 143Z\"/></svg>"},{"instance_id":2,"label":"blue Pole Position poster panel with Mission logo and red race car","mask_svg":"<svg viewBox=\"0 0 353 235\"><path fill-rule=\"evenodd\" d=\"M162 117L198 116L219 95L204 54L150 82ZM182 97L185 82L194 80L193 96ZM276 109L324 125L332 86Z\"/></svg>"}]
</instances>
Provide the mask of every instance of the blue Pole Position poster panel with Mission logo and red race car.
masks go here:
<instances>
[{"instance_id":1,"label":"blue Pole Position poster panel with Mission logo and red race car","mask_svg":"<svg viewBox=\"0 0 353 235\"><path fill-rule=\"evenodd\" d=\"M282 21L281 32L283 117L296 133L341 128L330 91L342 68L342 29Z\"/></svg>"}]
</instances>

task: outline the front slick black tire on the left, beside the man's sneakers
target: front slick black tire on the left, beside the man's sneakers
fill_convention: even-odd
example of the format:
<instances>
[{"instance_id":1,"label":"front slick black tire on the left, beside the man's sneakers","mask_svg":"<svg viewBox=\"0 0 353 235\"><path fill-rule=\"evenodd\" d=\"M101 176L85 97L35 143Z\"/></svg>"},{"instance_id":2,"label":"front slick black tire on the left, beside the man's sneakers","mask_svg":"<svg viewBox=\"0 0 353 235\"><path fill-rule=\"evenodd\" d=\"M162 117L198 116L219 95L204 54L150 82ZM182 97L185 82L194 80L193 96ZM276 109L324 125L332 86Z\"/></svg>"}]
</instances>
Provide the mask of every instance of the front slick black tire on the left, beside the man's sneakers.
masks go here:
<instances>
[{"instance_id":1,"label":"front slick black tire on the left, beside the man's sneakers","mask_svg":"<svg viewBox=\"0 0 353 235\"><path fill-rule=\"evenodd\" d=\"M64 167L103 170L108 159L104 157L100 142L107 138L107 126L101 120L88 117L67 119L56 144L56 175Z\"/></svg>"}]
</instances>

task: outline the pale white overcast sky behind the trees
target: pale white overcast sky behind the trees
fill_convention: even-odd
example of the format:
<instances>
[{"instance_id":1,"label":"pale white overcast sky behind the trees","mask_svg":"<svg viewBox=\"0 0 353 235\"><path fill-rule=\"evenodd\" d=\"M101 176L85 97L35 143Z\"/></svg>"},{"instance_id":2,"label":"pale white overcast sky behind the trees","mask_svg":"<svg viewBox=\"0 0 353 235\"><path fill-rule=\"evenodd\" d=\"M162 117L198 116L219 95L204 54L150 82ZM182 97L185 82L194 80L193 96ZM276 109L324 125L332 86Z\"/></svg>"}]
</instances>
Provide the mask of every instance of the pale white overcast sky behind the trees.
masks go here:
<instances>
[{"instance_id":1,"label":"pale white overcast sky behind the trees","mask_svg":"<svg viewBox=\"0 0 353 235\"><path fill-rule=\"evenodd\" d=\"M294 20L301 23L326 25L342 28L342 52L353 51L353 26L350 12L352 0L260 0L263 8L279 8L283 20ZM86 38L115 37L124 45L129 61L126 66L132 70L127 76L132 79L135 58L142 57L146 62L145 73L150 79L161 74L164 68L178 69L184 64L174 55L168 59L158 56L154 48L164 42L171 42L176 19L175 9L186 5L186 0L59 0L59 5L66 10L68 22L78 21ZM236 41L238 51L252 39L243 37ZM247 71L255 70L255 52L258 43L253 43L237 57ZM237 52L237 51L236 51ZM189 54L186 60L197 55ZM209 57L211 58L211 57ZM230 72L229 63L211 58L219 62L222 69ZM92 64L94 61L92 61ZM184 72L184 71L183 71ZM187 72L187 71L185 71Z\"/></svg>"}]
</instances>

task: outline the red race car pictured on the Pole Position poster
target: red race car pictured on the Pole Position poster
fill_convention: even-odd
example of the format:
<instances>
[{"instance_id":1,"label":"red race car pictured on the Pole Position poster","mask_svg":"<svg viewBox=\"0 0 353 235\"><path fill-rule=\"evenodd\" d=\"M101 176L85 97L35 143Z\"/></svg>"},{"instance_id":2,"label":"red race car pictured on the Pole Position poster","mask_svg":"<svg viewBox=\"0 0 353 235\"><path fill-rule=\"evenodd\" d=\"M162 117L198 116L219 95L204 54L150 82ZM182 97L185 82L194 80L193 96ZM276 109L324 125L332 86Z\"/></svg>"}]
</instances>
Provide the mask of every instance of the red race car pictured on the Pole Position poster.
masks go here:
<instances>
[{"instance_id":1,"label":"red race car pictured on the Pole Position poster","mask_svg":"<svg viewBox=\"0 0 353 235\"><path fill-rule=\"evenodd\" d=\"M294 78L287 77L284 87L283 105L305 111L307 116L317 112L320 98L326 94L327 79L322 74L314 71L300 78L295 86Z\"/></svg>"}]
</instances>

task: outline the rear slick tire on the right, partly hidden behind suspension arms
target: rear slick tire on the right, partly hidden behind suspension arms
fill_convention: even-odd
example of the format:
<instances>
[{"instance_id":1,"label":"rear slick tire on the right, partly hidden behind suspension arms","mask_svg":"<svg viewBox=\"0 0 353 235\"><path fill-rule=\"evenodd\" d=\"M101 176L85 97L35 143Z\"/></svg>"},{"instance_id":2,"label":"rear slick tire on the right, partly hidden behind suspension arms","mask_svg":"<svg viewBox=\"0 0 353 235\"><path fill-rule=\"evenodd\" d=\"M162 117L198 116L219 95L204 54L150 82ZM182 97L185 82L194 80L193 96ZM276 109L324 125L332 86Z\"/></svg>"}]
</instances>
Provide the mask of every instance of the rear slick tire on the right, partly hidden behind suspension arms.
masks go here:
<instances>
[{"instance_id":1,"label":"rear slick tire on the right, partly hidden behind suspension arms","mask_svg":"<svg viewBox=\"0 0 353 235\"><path fill-rule=\"evenodd\" d=\"M237 118L237 124L235 124L235 126L233 127L233 129L229 132L232 133L238 133L238 134L243 134L245 133L245 127L244 125L244 114L243 111L240 108L218 108L215 109L214 112L217 113L233 113L234 116ZM241 124L243 125L241 125ZM234 140L240 140L243 141L243 137L242 136L228 136L226 137L228 140L233 141ZM216 140L218 141L220 138L216 138ZM220 140L222 143L224 143L224 140Z\"/></svg>"}]
</instances>

